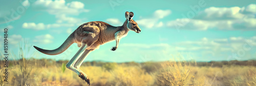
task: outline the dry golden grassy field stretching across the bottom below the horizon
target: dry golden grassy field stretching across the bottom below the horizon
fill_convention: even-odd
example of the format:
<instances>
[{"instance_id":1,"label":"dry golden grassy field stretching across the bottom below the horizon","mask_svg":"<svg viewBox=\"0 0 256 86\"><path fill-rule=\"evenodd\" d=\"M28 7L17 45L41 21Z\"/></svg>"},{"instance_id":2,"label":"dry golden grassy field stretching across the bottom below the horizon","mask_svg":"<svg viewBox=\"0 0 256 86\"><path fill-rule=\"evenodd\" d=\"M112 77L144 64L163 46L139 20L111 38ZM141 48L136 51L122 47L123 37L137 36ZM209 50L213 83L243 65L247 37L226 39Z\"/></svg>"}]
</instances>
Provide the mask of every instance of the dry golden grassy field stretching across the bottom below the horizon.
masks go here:
<instances>
[{"instance_id":1,"label":"dry golden grassy field stretching across the bottom below the horizon","mask_svg":"<svg viewBox=\"0 0 256 86\"><path fill-rule=\"evenodd\" d=\"M256 61L84 62L91 85L256 85ZM10 61L8 82L1 85L87 85L66 69L67 61ZM3 68L1 60L1 69Z\"/></svg>"}]
</instances>

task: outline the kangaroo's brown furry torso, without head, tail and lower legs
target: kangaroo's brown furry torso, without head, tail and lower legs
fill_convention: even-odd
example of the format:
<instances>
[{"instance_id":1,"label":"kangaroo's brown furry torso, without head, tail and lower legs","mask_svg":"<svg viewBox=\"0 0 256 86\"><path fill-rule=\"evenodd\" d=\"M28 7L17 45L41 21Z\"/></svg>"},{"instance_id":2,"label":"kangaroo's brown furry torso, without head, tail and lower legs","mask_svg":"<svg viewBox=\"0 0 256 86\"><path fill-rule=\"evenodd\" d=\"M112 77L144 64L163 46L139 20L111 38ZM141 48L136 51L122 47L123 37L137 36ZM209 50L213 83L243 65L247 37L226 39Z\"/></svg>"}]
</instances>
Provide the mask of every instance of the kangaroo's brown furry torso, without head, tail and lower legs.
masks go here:
<instances>
[{"instance_id":1,"label":"kangaroo's brown furry torso, without head, tail and lower legs","mask_svg":"<svg viewBox=\"0 0 256 86\"><path fill-rule=\"evenodd\" d=\"M87 49L96 49L106 42L115 40L115 33L120 31L119 35L127 34L127 21L120 27L114 27L107 23L96 21L82 24L75 30L74 40L80 47L81 42L85 42Z\"/></svg>"}]
</instances>

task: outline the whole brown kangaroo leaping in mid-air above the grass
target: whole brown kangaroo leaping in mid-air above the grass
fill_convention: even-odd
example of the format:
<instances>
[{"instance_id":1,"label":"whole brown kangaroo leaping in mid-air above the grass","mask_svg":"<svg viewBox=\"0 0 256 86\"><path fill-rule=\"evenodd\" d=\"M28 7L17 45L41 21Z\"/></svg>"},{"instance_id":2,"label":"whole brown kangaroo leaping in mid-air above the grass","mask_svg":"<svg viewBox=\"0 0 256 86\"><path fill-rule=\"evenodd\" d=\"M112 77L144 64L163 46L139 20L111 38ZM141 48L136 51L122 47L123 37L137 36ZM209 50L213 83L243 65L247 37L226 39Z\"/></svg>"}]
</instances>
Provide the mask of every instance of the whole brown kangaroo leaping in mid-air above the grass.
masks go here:
<instances>
[{"instance_id":1,"label":"whole brown kangaroo leaping in mid-air above the grass","mask_svg":"<svg viewBox=\"0 0 256 86\"><path fill-rule=\"evenodd\" d=\"M138 24L133 20L133 12L125 12L125 22L122 26L114 27L104 22L88 22L80 25L64 42L63 44L54 50L45 50L34 46L36 50L47 55L57 55L67 50L74 42L80 49L67 63L66 67L78 74L82 80L90 85L90 79L86 73L82 72L79 68L83 60L88 54L95 49L99 49L100 45L106 42L116 40L116 46L111 50L115 51L118 48L119 41L122 37L125 37L128 31L135 31L140 33L141 29ZM83 52L83 53L82 53ZM78 56L80 56L78 58Z\"/></svg>"}]
</instances>

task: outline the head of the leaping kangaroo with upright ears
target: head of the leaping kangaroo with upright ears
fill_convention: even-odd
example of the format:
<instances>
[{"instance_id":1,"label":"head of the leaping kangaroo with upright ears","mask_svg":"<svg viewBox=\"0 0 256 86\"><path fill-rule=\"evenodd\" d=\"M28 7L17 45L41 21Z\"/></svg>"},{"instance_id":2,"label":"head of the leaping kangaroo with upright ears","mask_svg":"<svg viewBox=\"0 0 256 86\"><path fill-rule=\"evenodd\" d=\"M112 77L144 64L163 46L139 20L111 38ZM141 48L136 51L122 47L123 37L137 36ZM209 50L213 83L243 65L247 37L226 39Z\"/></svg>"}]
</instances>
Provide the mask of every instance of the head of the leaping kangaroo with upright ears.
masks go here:
<instances>
[{"instance_id":1,"label":"head of the leaping kangaroo with upright ears","mask_svg":"<svg viewBox=\"0 0 256 86\"><path fill-rule=\"evenodd\" d=\"M127 20L127 28L129 30L132 30L136 33L140 33L141 32L141 29L140 27L138 26L138 24L133 20L133 12L125 12L125 18Z\"/></svg>"}]
</instances>

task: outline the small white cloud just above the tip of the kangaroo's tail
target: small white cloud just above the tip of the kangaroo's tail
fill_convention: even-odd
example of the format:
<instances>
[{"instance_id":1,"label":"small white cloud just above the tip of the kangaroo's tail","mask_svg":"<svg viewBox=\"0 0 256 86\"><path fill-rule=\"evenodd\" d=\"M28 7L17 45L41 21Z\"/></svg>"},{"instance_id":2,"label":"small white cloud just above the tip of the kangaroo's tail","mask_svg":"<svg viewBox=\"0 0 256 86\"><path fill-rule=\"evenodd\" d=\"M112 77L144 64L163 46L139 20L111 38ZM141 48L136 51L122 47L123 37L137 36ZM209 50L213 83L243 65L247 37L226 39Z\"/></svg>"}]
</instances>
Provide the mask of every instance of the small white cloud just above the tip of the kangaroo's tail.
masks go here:
<instances>
[{"instance_id":1,"label":"small white cloud just above the tip of the kangaroo's tail","mask_svg":"<svg viewBox=\"0 0 256 86\"><path fill-rule=\"evenodd\" d=\"M50 44L54 37L50 34L35 36L33 42L39 44Z\"/></svg>"}]
</instances>

